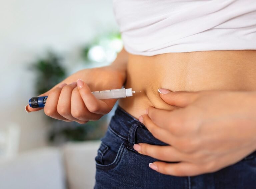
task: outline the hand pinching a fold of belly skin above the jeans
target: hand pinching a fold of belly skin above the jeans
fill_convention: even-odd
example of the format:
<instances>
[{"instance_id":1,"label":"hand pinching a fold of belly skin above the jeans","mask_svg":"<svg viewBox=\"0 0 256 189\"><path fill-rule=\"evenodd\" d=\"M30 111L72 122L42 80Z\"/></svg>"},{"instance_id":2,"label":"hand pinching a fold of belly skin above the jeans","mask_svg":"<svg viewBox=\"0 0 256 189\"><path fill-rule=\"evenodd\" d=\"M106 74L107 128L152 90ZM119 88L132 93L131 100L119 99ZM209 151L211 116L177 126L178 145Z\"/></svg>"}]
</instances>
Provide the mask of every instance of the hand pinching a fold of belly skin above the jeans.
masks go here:
<instances>
[{"instance_id":1,"label":"hand pinching a fold of belly skin above the jeans","mask_svg":"<svg viewBox=\"0 0 256 189\"><path fill-rule=\"evenodd\" d=\"M161 98L178 107L147 110L139 120L168 146L135 144L139 153L156 161L150 167L174 176L215 172L256 150L255 92L170 92ZM162 93L162 94L161 94Z\"/></svg>"}]
</instances>

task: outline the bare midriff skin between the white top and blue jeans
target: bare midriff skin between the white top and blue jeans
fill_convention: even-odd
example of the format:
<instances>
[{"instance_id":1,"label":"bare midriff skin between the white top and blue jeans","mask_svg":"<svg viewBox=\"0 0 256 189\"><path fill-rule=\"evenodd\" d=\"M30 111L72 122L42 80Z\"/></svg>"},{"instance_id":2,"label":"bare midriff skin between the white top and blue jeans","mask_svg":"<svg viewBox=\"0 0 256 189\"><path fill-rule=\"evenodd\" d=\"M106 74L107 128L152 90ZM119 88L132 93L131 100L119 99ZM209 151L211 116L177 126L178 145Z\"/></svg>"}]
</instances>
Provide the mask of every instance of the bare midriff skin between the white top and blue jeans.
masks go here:
<instances>
[{"instance_id":1,"label":"bare midriff skin between the white top and blue jeans","mask_svg":"<svg viewBox=\"0 0 256 189\"><path fill-rule=\"evenodd\" d=\"M171 91L256 90L256 51L201 51L129 56L126 88L141 91L119 100L138 118L149 106L171 110L158 89Z\"/></svg>"}]
</instances>

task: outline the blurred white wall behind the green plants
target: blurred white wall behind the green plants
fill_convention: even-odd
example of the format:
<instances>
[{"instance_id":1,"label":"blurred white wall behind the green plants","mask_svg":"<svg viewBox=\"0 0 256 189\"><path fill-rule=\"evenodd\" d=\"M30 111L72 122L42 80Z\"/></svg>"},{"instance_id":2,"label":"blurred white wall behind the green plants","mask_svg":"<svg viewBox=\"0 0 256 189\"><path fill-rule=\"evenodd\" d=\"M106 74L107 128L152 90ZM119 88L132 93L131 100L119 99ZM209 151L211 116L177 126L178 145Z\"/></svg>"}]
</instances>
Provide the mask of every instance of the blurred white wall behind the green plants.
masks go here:
<instances>
[{"instance_id":1,"label":"blurred white wall behind the green plants","mask_svg":"<svg viewBox=\"0 0 256 189\"><path fill-rule=\"evenodd\" d=\"M0 0L0 128L20 125L20 151L46 145L43 112L26 113L35 95L28 65L47 49L63 53L70 70L78 49L99 33L118 30L111 0Z\"/></svg>"}]
</instances>

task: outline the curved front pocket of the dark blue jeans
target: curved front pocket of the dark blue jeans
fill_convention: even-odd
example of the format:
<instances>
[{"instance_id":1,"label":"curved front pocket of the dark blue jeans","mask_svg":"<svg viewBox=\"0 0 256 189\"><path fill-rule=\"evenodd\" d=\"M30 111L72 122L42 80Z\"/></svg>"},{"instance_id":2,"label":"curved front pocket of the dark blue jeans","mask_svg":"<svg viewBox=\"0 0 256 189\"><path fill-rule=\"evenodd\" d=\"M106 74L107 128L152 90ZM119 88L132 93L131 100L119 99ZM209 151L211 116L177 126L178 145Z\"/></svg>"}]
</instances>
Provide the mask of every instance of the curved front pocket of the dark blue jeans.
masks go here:
<instances>
[{"instance_id":1,"label":"curved front pocket of the dark blue jeans","mask_svg":"<svg viewBox=\"0 0 256 189\"><path fill-rule=\"evenodd\" d=\"M118 165L122 159L123 151L125 149L125 142L123 142L118 152L111 150L104 142L101 142L98 149L98 154L95 157L96 167L101 170L110 170Z\"/></svg>"}]
</instances>

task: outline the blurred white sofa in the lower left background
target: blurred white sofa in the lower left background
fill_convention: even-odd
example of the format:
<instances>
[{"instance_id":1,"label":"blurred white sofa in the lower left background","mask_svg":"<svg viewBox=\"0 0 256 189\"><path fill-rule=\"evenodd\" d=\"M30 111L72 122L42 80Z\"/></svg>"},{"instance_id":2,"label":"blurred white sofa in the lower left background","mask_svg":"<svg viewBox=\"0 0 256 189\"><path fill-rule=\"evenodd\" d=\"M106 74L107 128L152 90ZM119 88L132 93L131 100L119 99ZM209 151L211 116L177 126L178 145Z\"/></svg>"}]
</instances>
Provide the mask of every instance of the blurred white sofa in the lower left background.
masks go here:
<instances>
[{"instance_id":1,"label":"blurred white sofa in the lower left background","mask_svg":"<svg viewBox=\"0 0 256 189\"><path fill-rule=\"evenodd\" d=\"M0 162L1 189L90 189L100 141L33 150Z\"/></svg>"}]
</instances>

